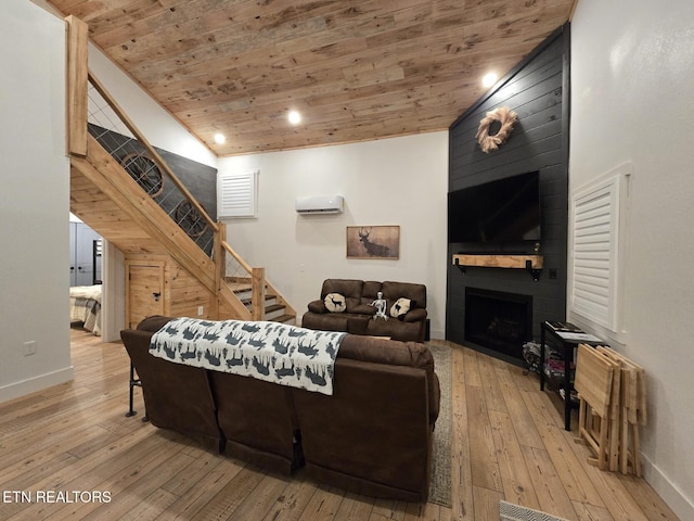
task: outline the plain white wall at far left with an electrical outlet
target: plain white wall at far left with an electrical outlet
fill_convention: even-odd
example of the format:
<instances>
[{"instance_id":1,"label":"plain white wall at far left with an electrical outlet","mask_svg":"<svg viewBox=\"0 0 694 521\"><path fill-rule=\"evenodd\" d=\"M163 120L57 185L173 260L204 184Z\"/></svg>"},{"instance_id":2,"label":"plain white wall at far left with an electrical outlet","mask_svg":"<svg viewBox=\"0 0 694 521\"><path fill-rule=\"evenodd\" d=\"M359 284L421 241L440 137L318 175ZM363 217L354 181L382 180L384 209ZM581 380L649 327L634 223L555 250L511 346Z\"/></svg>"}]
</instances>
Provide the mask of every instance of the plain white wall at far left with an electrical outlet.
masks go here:
<instances>
[{"instance_id":1,"label":"plain white wall at far left with an electrical outlet","mask_svg":"<svg viewBox=\"0 0 694 521\"><path fill-rule=\"evenodd\" d=\"M0 402L72 379L65 24L0 10ZM24 356L25 342L36 354Z\"/></svg>"}]
</instances>

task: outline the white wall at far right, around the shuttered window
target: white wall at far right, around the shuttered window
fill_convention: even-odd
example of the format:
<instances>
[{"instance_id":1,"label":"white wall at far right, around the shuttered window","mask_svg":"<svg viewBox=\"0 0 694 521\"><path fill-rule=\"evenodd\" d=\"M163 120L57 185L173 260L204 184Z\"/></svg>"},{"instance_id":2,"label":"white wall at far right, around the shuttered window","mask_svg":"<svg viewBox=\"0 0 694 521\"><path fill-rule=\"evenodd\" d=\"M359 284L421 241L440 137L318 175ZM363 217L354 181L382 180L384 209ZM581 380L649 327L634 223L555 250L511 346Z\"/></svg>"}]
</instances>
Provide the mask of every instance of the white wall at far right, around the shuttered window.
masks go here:
<instances>
[{"instance_id":1,"label":"white wall at far right, around the shuttered window","mask_svg":"<svg viewBox=\"0 0 694 521\"><path fill-rule=\"evenodd\" d=\"M580 0L571 40L570 188L633 165L618 347L648 377L646 480L694 519L694 3Z\"/></svg>"}]
</instances>

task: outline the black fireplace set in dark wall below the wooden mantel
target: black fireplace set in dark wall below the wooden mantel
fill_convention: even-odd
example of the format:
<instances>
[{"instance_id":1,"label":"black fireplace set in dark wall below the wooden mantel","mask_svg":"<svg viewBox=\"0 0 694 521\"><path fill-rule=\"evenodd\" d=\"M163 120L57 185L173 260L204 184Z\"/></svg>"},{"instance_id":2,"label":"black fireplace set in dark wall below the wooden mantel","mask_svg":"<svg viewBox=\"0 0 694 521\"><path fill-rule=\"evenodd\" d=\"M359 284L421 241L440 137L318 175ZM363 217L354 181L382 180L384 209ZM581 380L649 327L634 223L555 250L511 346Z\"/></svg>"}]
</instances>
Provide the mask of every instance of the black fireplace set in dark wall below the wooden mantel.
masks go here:
<instances>
[{"instance_id":1,"label":"black fireplace set in dark wall below the wooden mantel","mask_svg":"<svg viewBox=\"0 0 694 521\"><path fill-rule=\"evenodd\" d=\"M532 296L465 288L465 340L520 359L532 340Z\"/></svg>"}]
</instances>

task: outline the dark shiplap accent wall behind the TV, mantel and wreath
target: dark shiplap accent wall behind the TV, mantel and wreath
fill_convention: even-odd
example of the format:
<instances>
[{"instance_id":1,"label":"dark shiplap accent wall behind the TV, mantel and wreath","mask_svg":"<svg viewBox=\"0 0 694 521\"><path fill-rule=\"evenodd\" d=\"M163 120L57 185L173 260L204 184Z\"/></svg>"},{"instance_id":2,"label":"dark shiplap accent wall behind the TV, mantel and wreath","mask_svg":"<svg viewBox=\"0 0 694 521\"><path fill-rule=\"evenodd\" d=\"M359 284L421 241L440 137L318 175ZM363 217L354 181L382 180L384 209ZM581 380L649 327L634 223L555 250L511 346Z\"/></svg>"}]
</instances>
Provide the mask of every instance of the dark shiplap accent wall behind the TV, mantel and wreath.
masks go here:
<instances>
[{"instance_id":1,"label":"dark shiplap accent wall behind the TV, mantel and wreath","mask_svg":"<svg viewBox=\"0 0 694 521\"><path fill-rule=\"evenodd\" d=\"M542 320L563 320L566 313L568 223L568 25L500 80L449 129L449 191L516 174L540 173L544 269L534 281L524 269L467 268L452 265L455 253L492 253L489 247L449 244L446 338L464 344L465 287L532 296L534 336ZM485 113L509 106L518 114L513 132L498 151L486 154L475 135ZM532 244L509 244L494 253L532 253ZM554 271L556 278L550 278ZM483 350L485 351L485 350Z\"/></svg>"}]
</instances>

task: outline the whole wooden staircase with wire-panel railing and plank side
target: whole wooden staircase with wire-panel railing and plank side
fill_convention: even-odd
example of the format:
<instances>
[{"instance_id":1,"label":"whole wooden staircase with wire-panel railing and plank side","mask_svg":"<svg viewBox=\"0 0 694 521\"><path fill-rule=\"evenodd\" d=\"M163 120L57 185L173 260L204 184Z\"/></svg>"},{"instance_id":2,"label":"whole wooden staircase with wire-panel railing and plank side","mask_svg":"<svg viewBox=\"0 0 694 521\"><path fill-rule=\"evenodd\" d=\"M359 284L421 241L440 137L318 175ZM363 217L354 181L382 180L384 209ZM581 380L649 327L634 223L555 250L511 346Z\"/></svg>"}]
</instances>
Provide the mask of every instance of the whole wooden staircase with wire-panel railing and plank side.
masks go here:
<instances>
[{"instance_id":1,"label":"whole wooden staircase with wire-panel railing and plank side","mask_svg":"<svg viewBox=\"0 0 694 521\"><path fill-rule=\"evenodd\" d=\"M70 212L120 250L126 263L145 259L170 266L170 280L166 280L166 291L160 293L164 304L169 304L166 309L172 310L175 304L185 300L195 308L195 298L203 298L200 302L213 303L208 306L213 313L206 314L209 319L293 323L296 312L266 279L265 269L248 266L233 251L226 241L224 225L210 219L89 73L86 24L72 17L67 22ZM93 104L94 91L107 104L110 114L119 119L116 130L110 130L107 137L90 135L94 134L94 125L87 123L88 93ZM127 128L132 138L117 134L120 128ZM114 134L123 138L117 147L110 144ZM174 188L162 195L162 186ZM187 285L174 295L175 282L180 281ZM167 303L167 298L171 302Z\"/></svg>"}]
</instances>

